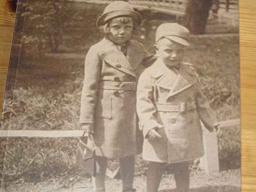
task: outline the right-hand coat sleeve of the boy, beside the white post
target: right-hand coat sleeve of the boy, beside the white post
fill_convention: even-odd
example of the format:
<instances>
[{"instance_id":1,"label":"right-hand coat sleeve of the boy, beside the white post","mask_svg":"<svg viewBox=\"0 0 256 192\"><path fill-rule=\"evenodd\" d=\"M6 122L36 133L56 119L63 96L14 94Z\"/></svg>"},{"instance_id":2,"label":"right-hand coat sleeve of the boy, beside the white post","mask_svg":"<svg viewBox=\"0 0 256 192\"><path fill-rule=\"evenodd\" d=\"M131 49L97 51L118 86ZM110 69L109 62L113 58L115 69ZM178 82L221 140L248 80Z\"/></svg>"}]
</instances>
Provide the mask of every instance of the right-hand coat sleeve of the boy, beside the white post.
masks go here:
<instances>
[{"instance_id":1,"label":"right-hand coat sleeve of the boy, beside the white post","mask_svg":"<svg viewBox=\"0 0 256 192\"><path fill-rule=\"evenodd\" d=\"M200 87L198 87L198 92L196 95L196 106L199 118L203 122L205 128L207 128L209 131L213 131L213 127L219 123Z\"/></svg>"}]
</instances>

